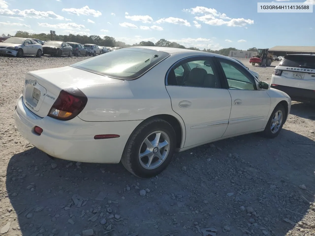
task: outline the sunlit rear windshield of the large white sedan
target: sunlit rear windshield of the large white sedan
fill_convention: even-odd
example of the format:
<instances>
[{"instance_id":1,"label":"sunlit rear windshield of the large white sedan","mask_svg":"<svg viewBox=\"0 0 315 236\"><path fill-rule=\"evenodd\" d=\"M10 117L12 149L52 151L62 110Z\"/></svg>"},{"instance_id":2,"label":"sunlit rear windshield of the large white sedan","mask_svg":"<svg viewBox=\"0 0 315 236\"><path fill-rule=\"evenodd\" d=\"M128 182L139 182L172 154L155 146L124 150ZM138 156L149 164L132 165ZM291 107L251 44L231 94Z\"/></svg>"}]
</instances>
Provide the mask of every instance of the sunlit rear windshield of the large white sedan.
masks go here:
<instances>
[{"instance_id":1,"label":"sunlit rear windshield of the large white sedan","mask_svg":"<svg viewBox=\"0 0 315 236\"><path fill-rule=\"evenodd\" d=\"M135 79L170 54L146 48L123 48L77 62L72 67L118 79Z\"/></svg>"}]
</instances>

